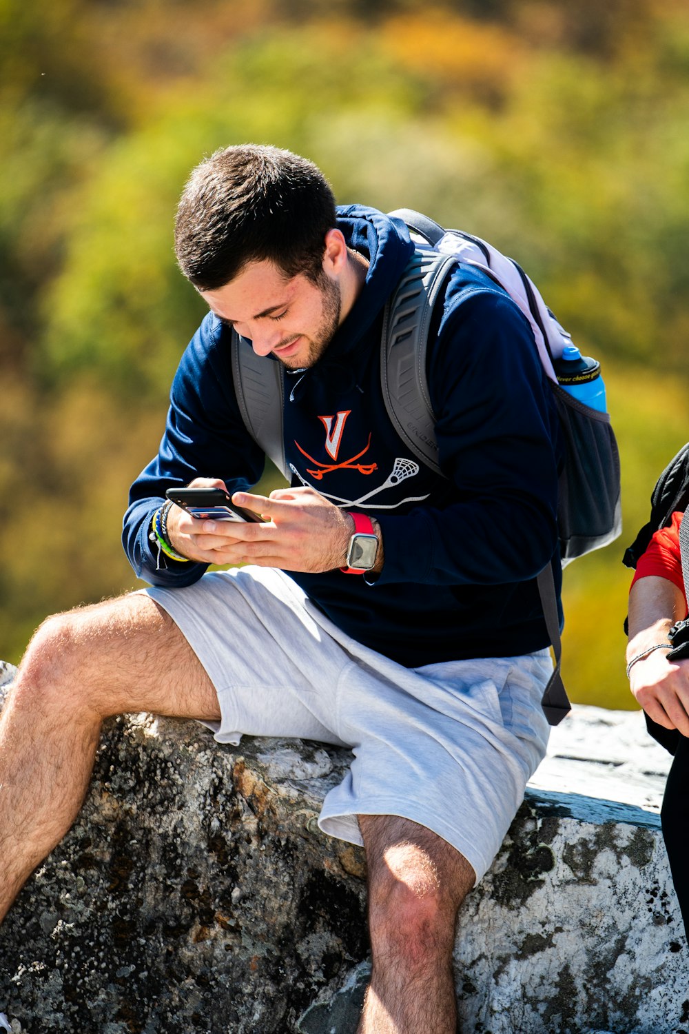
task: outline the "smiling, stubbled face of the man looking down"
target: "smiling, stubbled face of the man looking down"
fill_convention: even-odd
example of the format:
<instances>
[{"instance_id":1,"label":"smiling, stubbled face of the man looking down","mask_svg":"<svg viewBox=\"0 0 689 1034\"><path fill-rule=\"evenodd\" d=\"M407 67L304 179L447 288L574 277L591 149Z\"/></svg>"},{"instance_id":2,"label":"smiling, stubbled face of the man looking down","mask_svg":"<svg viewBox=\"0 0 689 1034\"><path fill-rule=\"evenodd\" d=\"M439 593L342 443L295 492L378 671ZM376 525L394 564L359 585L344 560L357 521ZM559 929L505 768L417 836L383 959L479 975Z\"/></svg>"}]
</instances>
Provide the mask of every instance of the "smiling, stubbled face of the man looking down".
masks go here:
<instances>
[{"instance_id":1,"label":"smiling, stubbled face of the man looking down","mask_svg":"<svg viewBox=\"0 0 689 1034\"><path fill-rule=\"evenodd\" d=\"M303 273L288 278L271 262L254 262L229 283L200 295L251 341L256 355L273 353L293 370L313 366L340 324L340 284L325 272L314 283Z\"/></svg>"}]
</instances>

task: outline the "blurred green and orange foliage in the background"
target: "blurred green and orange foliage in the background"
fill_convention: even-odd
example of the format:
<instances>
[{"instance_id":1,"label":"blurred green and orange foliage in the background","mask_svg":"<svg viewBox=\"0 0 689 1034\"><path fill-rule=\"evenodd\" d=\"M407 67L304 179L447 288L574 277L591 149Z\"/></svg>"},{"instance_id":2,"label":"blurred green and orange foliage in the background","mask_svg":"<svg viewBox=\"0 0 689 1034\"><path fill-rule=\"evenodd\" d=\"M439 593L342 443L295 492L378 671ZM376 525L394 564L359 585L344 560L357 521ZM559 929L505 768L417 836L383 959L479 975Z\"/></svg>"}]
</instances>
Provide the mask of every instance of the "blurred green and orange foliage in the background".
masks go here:
<instances>
[{"instance_id":1,"label":"blurred green and orange foliage in the background","mask_svg":"<svg viewBox=\"0 0 689 1034\"><path fill-rule=\"evenodd\" d=\"M256 141L488 238L601 359L625 533L567 569L564 673L631 706L621 555L689 437L686 4L0 0L0 657L135 583L127 489L203 313L177 197Z\"/></svg>"}]
</instances>

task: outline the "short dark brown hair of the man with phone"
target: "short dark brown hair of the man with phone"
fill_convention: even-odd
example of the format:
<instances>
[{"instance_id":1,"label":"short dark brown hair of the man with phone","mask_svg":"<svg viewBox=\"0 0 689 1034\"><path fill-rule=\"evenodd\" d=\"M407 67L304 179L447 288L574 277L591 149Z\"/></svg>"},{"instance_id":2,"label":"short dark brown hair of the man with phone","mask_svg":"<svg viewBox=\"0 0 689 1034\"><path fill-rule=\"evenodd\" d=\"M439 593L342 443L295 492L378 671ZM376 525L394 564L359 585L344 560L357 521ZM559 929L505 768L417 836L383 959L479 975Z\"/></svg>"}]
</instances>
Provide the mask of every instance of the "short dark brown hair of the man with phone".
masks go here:
<instances>
[{"instance_id":1,"label":"short dark brown hair of the man with phone","mask_svg":"<svg viewBox=\"0 0 689 1034\"><path fill-rule=\"evenodd\" d=\"M180 269L199 291L229 283L250 262L269 260L287 276L322 272L335 199L320 170L277 147L242 144L194 169L175 223Z\"/></svg>"}]
</instances>

